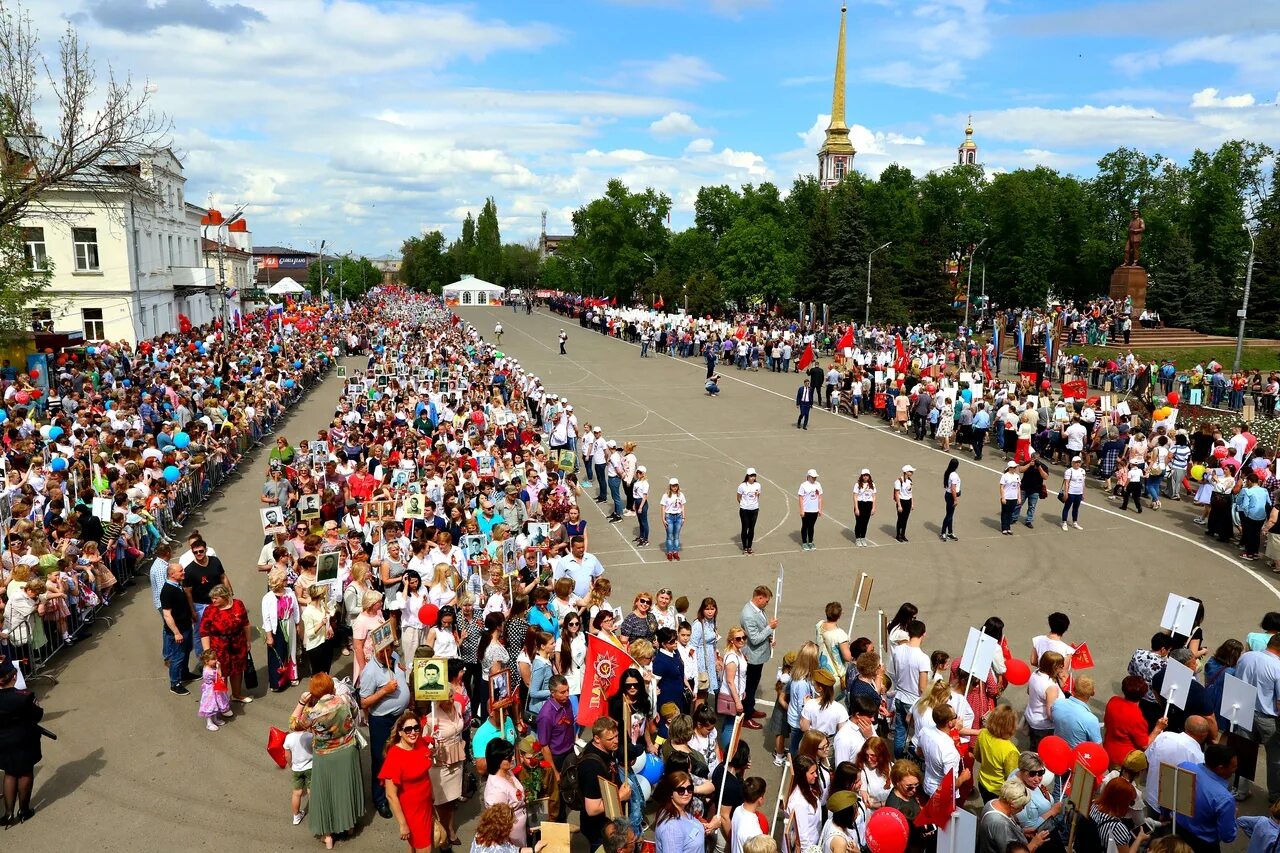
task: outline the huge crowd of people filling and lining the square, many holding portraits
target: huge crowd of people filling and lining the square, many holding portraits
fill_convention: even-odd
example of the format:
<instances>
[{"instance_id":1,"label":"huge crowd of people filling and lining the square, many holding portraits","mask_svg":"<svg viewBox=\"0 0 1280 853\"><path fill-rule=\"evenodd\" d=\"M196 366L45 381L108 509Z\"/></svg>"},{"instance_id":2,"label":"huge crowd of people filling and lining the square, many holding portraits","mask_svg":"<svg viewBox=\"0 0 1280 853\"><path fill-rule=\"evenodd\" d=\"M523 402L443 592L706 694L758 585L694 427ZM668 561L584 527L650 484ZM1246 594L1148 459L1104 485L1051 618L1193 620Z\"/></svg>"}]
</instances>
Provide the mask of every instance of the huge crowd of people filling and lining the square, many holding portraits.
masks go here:
<instances>
[{"instance_id":1,"label":"huge crowd of people filling and lining the square, many holding portraits","mask_svg":"<svg viewBox=\"0 0 1280 853\"><path fill-rule=\"evenodd\" d=\"M689 343L689 355L707 359L714 375L718 356L707 345L726 330L705 329L699 341L690 328L686 342L685 333L663 338L640 327L636 342L644 346L648 333L659 351ZM735 327L723 352L733 346L736 355L745 337ZM1252 494L1262 469L1274 476L1272 457L1248 439L1207 435L1203 461L1180 464L1175 451L1185 437L1174 424L1100 412L1087 398L1069 405L1025 382L1010 392L974 375L982 352L956 350L952 359L942 337L934 338L947 352L941 362L916 365L908 351L904 365L900 339L900 332L868 333L852 347L860 355L832 360L835 396L828 392L826 405L884 416L920 441L963 444L979 459L989 435L1010 456L1001 479L1010 532L1016 520L1032 524L1034 501L1021 515L1028 500L1056 485L1044 459L1066 462L1064 529L1080 526L1084 469L1112 451L1124 471L1116 497L1139 507L1143 498L1158 505L1167 479L1172 498L1183 485L1162 470L1156 497L1144 491L1156 475L1151 459L1187 478L1197 464L1213 465L1199 479L1211 478L1215 492L1242 470L1248 485L1240 494ZM787 355L785 332L778 341L782 351L762 348L762 357L788 370L787 359L805 348ZM1280 802L1280 613L1245 633L1252 626L1215 628L1203 605L1188 599L1193 617L1152 625L1125 672L1108 674L1123 678L1112 697L1098 692L1115 678L1093 678L1088 649L1069 639L1070 619L1059 612L1030 638L1011 635L991 615L979 646L995 651L980 663L961 653L964 638L931 638L931 615L911 603L870 637L851 637L846 607L831 602L813 615L810 640L778 649L769 587L726 590L732 598L722 605L703 587L645 589L648 579L632 576L627 587L640 589L631 602L614 598L620 579L593 553L598 532L582 508L595 501L605 524L634 524L639 547L649 542L655 501L663 551L680 560L690 508L681 484L655 473L659 485L650 491L626 435L581 420L570 400L435 300L380 288L349 311L259 324L232 342L211 332L195 348L177 339L146 346L137 355L106 347L78 356L68 368L73 392L44 438L33 409L9 410L20 424L8 437L10 487L38 507L15 502L6 528L6 626L38 628L50 642L63 630L60 602L78 601L81 589L109 599L124 566L154 552L148 574L169 689L189 695L187 684L198 681L193 713L211 734L260 693L259 671L265 689L294 692L288 720L274 720L282 731L271 752L291 770L294 825L306 822L326 847L372 808L410 850L451 849L466 840L460 809L476 799L480 816L468 826L476 853L540 848L552 831L543 824L562 821L577 825L591 853L630 853L646 839L658 853L768 853L780 844L804 853L934 850L946 827L957 826L957 806L979 812L982 853L1089 844L1199 853L1242 830L1261 853L1280 839L1275 806L1272 817L1236 818L1236 800L1253 793L1256 774L1238 774L1251 748L1265 751L1266 795ZM264 583L243 590L251 608L204 537L191 534L184 553L165 542L166 514L180 508L183 483L204 476L205 466L238 464L232 439L269 434L300 388L343 352L361 366L347 359L340 368L329 425L305 441L275 434L262 459ZM749 346L744 369L751 362ZM905 369L890 375L895 365ZM77 368L88 374L81 391ZM827 386L829 371L817 364L803 371L810 368L820 382L804 378L797 406L823 405L815 391L803 392ZM973 371L969 380L960 368ZM68 412L76 394L82 405ZM1047 428L1034 429L1042 411ZM73 496L61 483L81 466ZM942 483L948 512L960 494L956 467L952 461ZM911 466L895 475L901 540L913 475ZM756 479L749 469L736 487L748 553ZM1115 470L1112 479L1119 484ZM95 515L100 496L119 507L105 521ZM855 498L861 542L881 500L870 471ZM1225 516L1220 501L1206 502L1211 532L1234 534L1239 516L1245 552L1263 528L1244 524L1253 519L1249 500L1229 497ZM822 510L817 471L797 501L809 546ZM19 538L41 553L14 552ZM70 584L74 596L64 592ZM266 638L265 666L252 657L255 626ZM1229 638L1233 631L1240 639ZM10 629L5 640L0 653L32 657L35 638ZM1184 670L1192 681L1181 707L1166 703L1164 680ZM1256 692L1251 735L1233 733L1220 715L1226 676ZM15 678L10 662L0 663L6 821L31 817L40 760L38 706ZM782 768L783 788L769 790L751 772L753 760ZM1078 762L1100 785L1079 812L1064 797ZM1180 816L1176 830L1160 794L1165 763L1197 777L1194 815Z\"/></svg>"}]
</instances>

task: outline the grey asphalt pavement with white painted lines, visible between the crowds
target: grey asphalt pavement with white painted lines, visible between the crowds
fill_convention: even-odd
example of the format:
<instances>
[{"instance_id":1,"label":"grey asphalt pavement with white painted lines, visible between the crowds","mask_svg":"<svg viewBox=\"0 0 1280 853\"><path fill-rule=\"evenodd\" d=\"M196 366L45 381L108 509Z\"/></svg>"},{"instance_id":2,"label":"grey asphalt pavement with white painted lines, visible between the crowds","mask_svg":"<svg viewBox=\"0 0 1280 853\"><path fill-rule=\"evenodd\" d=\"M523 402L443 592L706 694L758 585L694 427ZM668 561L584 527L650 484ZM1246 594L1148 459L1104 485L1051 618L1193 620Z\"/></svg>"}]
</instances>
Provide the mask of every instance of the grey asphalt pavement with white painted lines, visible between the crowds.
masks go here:
<instances>
[{"instance_id":1,"label":"grey asphalt pavement with white painted lines, visible between the crowds","mask_svg":"<svg viewBox=\"0 0 1280 853\"><path fill-rule=\"evenodd\" d=\"M1084 532L1064 533L1056 524L1037 523L1034 530L1019 528L1015 537L1001 537L998 453L988 453L982 464L961 455L966 461L960 467L960 542L942 543L937 525L945 455L888 434L881 421L851 421L818 410L808 432L796 430L791 401L799 379L794 375L730 368L723 371L724 392L709 398L701 388L700 360L640 360L634 347L547 314L526 316L500 309L462 314L484 332L500 319L506 352L552 391L567 394L580 419L602 424L605 435L620 442L636 441L640 461L655 484L678 476L685 487L689 523L678 564L663 558L655 516L655 544L637 549L631 546L631 519L609 525L594 502L585 502L590 547L612 578L618 603L660 585L671 585L695 603L709 594L721 603L723 629L736 621L753 587L773 585L782 564L786 584L778 648L788 649L812 639L826 602L837 599L849 607L852 587L865 571L876 579L873 611L892 612L902 601L919 606L929 626L927 649L959 654L970 625L1000 615L1012 648L1024 654L1030 637L1043 631L1046 613L1070 613L1068 639L1088 640L1098 663L1100 693L1110 695L1119 689L1133 649L1149 639L1170 592L1206 601L1211 647L1243 637L1280 598L1258 564L1240 564L1229 552L1202 543L1185 505L1166 502L1172 508L1138 517L1119 514L1091 491L1080 519ZM561 328L570 334L566 356L557 355ZM285 423L284 434L291 441L312 435L328 421L338 393L339 383L332 377L312 389ZM910 542L899 544L892 540L888 487L908 462L918 469L916 511ZM759 470L765 485L753 557L741 556L735 544L733 491L748 466ZM864 466L881 487L882 508L870 532L874 548L852 543L849 489ZM795 489L808 467L822 475L827 517L818 524L818 549L801 552ZM255 564L262 542L257 496L265 460L252 455L242 470L191 526L204 532L237 596L256 613L264 592ZM654 493L659 491L655 487ZM1046 512L1056 508L1052 498L1044 505ZM59 658L56 684L35 684L47 710L45 725L60 739L45 742L45 761L36 776L36 820L0 834L4 848L12 844L31 853L317 849L305 824L291 825L288 775L265 751L268 727L284 725L293 692L266 694L264 684L256 702L237 706L228 726L218 734L206 731L196 715L198 692L187 698L168 692L159 616L145 584L134 584L122 603L113 608L119 616L115 625L100 626L91 640ZM874 619L859 615L856 629L855 634L872 635ZM261 666L265 647L257 640L253 648ZM349 660L340 658L338 674ZM765 674L769 678L772 671ZM1018 692L1011 699L1019 708L1024 701ZM751 743L758 756L751 772L769 780L772 802L776 768L758 734ZM1258 811L1262 800L1256 794L1247 809ZM465 839L475 813L472 803L460 815ZM399 849L399 843L393 826L372 816L339 849Z\"/></svg>"}]
</instances>

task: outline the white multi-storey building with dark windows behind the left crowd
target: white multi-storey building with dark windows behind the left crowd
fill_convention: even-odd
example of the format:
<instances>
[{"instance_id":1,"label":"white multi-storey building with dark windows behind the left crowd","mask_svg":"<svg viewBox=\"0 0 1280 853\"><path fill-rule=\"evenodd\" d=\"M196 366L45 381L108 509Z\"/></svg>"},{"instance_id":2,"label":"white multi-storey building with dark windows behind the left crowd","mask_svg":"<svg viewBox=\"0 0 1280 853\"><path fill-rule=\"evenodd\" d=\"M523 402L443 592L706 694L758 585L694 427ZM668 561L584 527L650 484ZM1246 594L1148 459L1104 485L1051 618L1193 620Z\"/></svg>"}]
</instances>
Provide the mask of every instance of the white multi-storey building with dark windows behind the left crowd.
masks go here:
<instances>
[{"instance_id":1,"label":"white multi-storey building with dark windows behind the left crowd","mask_svg":"<svg viewBox=\"0 0 1280 853\"><path fill-rule=\"evenodd\" d=\"M184 199L182 163L168 150L105 163L45 193L22 220L27 256L52 264L45 307L32 321L84 341L128 341L193 325L220 310L205 266L200 216Z\"/></svg>"}]
</instances>

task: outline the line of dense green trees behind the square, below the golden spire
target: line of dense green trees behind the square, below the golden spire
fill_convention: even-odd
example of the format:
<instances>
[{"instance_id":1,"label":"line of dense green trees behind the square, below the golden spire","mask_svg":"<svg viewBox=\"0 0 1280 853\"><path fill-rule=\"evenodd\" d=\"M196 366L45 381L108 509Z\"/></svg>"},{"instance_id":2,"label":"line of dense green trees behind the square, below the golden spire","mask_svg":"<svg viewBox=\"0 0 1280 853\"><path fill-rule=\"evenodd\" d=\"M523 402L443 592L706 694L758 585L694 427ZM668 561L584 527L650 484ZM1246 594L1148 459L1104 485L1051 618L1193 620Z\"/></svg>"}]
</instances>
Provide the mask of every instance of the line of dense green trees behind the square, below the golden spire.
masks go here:
<instances>
[{"instance_id":1,"label":"line of dense green trees behind the square, below the golden spire","mask_svg":"<svg viewBox=\"0 0 1280 853\"><path fill-rule=\"evenodd\" d=\"M890 243L873 257L873 319L954 323L970 266L975 301L983 280L987 297L1007 306L1106 295L1137 204L1147 225L1147 302L1167 324L1234 330L1252 233L1248 333L1280 337L1280 188L1275 152L1257 142L1197 150L1187 163L1121 147L1098 160L1092 178L1047 167L989 174L979 165L915 175L895 164L877 178L851 173L831 190L813 177L786 195L772 183L703 187L694 224L682 231L667 225L671 204L660 191L634 192L613 179L573 213L572 240L531 273L504 263L509 247L497 240L490 199L454 243L445 247L439 232L406 242L406 268L422 259L422 272L406 280L453 280L428 270L467 272L470 259L477 275L488 278L488 269L498 283L518 270L521 282L532 275L541 287L622 304L660 298L704 314L791 311L803 300L860 319L868 252Z\"/></svg>"}]
</instances>

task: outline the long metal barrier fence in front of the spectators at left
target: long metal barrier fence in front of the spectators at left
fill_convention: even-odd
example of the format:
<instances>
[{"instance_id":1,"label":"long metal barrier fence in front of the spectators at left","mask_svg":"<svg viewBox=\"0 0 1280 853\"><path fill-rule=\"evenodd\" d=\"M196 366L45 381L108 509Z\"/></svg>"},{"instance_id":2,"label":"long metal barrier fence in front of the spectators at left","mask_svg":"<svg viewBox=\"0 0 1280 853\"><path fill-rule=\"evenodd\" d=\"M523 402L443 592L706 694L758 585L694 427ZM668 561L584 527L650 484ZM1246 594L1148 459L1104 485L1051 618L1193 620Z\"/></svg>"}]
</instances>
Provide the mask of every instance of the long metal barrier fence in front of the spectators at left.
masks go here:
<instances>
[{"instance_id":1,"label":"long metal barrier fence in front of the spectators at left","mask_svg":"<svg viewBox=\"0 0 1280 853\"><path fill-rule=\"evenodd\" d=\"M333 362L329 365L333 366ZM316 373L303 386L296 386L285 392L280 405L271 405L266 412L257 412L250 421L248 432L236 435L236 456L243 457L275 432L280 421L301 402L307 393L324 380L328 370ZM225 453L210 453L198 464L192 464L183 471L173 487L169 503L161 506L157 514L141 529L142 548L138 553L128 553L116 544L110 553L102 555L104 565L114 576L114 583L105 574L95 576L91 571L77 571L68 579L68 573L60 573L69 583L64 598L45 598L37 602L26 589L10 585L14 596L4 611L0 622L0 654L19 665L24 678L46 679L56 683L50 674L50 661L97 622L110 625L119 617L119 608L111 612L115 594L134 578L141 578L150 601L150 569L155 558L155 548L178 533L191 517L191 512L205 503L238 467L238 464ZM28 599L14 601L17 596L27 594Z\"/></svg>"}]
</instances>

